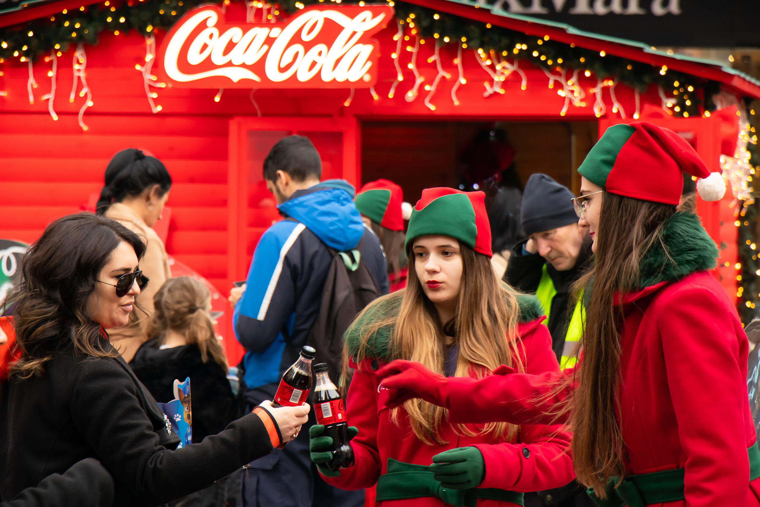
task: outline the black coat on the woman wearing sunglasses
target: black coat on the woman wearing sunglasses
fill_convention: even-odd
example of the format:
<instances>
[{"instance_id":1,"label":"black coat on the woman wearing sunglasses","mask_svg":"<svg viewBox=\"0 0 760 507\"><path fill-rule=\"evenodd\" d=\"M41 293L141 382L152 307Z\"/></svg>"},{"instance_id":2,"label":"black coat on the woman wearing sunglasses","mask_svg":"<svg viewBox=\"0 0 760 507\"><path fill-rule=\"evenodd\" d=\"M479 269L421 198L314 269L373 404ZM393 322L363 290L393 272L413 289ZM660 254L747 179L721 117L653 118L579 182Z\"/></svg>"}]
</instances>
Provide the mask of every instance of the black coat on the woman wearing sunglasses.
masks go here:
<instances>
[{"instance_id":1,"label":"black coat on the woman wearing sunglasses","mask_svg":"<svg viewBox=\"0 0 760 507\"><path fill-rule=\"evenodd\" d=\"M168 440L154 398L121 357L59 353L43 375L0 385L0 496L91 457L116 482L114 505L160 505L272 450L256 414L176 451L161 445Z\"/></svg>"}]
</instances>

